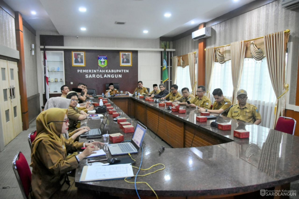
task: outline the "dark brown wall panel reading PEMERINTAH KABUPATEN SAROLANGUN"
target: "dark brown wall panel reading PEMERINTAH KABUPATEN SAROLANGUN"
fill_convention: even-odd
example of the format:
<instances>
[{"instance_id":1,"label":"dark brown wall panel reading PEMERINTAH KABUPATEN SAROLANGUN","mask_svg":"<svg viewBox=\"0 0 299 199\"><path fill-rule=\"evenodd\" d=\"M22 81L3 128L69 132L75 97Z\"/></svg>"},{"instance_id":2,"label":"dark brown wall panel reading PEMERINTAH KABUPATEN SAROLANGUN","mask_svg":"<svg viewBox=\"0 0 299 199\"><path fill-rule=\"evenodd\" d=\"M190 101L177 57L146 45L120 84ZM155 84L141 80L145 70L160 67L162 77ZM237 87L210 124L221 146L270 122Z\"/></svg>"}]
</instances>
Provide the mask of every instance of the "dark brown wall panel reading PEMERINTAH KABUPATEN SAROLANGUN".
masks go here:
<instances>
[{"instance_id":1,"label":"dark brown wall panel reading PEMERINTAH KABUPATEN SAROLANGUN","mask_svg":"<svg viewBox=\"0 0 299 199\"><path fill-rule=\"evenodd\" d=\"M65 84L70 88L77 88L78 83L84 83L88 88L96 90L97 94L105 91L105 84L119 83L120 91L132 93L138 82L138 51L132 51L132 66L120 66L119 52L122 50L74 50L85 51L85 67L72 66L72 50L64 50ZM108 65L105 68L98 66L98 56L107 56ZM89 72L78 70L102 70ZM109 71L110 70L110 71ZM113 70L113 71L112 71ZM116 72L115 70L128 70ZM87 77L86 77L87 75ZM90 76L91 75L91 76ZM92 77L92 76L95 77ZM106 77L105 77L106 75ZM110 75L110 77L107 77ZM112 75L114 77L112 77ZM115 77L118 76L118 77ZM73 84L71 85L71 82Z\"/></svg>"}]
</instances>

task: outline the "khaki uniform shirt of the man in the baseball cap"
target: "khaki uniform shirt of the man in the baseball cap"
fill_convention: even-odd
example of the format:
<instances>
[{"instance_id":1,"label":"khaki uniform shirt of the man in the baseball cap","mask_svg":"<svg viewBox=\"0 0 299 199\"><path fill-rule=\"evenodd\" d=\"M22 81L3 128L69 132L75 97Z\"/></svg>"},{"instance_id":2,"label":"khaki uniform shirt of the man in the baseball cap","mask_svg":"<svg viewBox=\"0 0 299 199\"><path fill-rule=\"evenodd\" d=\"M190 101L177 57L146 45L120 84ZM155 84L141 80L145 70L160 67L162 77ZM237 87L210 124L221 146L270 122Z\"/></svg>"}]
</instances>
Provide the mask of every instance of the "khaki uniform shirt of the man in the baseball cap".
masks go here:
<instances>
[{"instance_id":1,"label":"khaki uniform shirt of the man in the baseball cap","mask_svg":"<svg viewBox=\"0 0 299 199\"><path fill-rule=\"evenodd\" d=\"M240 108L239 104L234 105L228 111L227 117L248 123L254 123L256 120L262 119L257 107L249 103L246 103L244 108Z\"/></svg>"}]
</instances>

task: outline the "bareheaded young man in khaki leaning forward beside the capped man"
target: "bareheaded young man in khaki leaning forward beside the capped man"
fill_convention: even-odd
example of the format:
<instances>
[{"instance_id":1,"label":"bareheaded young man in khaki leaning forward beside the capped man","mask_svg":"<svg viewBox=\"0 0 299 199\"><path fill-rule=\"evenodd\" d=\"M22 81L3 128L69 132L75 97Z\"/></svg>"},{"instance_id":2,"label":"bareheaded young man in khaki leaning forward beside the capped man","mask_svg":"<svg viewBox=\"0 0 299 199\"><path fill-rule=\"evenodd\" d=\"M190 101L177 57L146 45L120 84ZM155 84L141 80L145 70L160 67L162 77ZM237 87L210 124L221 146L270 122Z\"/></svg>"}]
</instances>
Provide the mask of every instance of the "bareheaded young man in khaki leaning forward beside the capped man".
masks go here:
<instances>
[{"instance_id":1,"label":"bareheaded young man in khaki leaning forward beside the capped man","mask_svg":"<svg viewBox=\"0 0 299 199\"><path fill-rule=\"evenodd\" d=\"M212 94L215 98L215 102L213 104L212 110L208 110L209 113L221 114L231 106L231 100L228 100L223 96L223 92L220 88L216 88ZM199 108L199 111L205 111L205 109ZM229 110L225 111L224 113L222 113L222 115L227 116L228 111Z\"/></svg>"}]
</instances>

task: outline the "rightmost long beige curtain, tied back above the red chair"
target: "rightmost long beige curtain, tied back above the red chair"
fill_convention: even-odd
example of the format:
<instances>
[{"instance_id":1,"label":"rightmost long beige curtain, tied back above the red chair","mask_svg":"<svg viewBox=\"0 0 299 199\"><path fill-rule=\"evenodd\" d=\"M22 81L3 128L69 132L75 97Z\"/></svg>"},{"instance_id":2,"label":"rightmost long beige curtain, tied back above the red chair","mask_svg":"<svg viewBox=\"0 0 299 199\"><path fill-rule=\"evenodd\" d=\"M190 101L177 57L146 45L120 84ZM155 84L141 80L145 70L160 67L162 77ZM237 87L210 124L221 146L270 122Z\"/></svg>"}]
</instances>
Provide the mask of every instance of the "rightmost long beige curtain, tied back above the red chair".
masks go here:
<instances>
[{"instance_id":1,"label":"rightmost long beige curtain, tied back above the red chair","mask_svg":"<svg viewBox=\"0 0 299 199\"><path fill-rule=\"evenodd\" d=\"M271 83L277 97L277 108L275 113L276 117L274 118L273 128L277 123L278 117L284 116L284 111L286 108L286 98L283 94L285 93L285 53L288 40L289 32L284 31L264 36L268 70Z\"/></svg>"}]
</instances>

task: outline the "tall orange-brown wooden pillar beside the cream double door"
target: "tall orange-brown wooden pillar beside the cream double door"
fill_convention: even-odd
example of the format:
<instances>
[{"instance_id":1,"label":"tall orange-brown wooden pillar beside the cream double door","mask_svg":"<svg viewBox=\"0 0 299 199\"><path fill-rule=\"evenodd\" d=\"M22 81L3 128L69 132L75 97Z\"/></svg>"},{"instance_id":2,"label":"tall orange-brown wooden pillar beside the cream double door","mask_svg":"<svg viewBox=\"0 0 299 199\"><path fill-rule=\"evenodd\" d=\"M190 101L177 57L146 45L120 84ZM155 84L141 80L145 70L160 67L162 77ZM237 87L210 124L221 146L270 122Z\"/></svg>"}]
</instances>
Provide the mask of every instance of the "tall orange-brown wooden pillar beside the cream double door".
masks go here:
<instances>
[{"instance_id":1,"label":"tall orange-brown wooden pillar beside the cream double door","mask_svg":"<svg viewBox=\"0 0 299 199\"><path fill-rule=\"evenodd\" d=\"M16 27L16 44L17 50L20 53L20 59L18 61L18 77L19 77L19 89L21 96L21 113L23 130L29 128L29 117L28 117L28 102L27 102L27 91L26 91L26 72L25 72L25 55L24 55L24 35L23 35L23 20L22 15L19 12L15 12L15 27Z\"/></svg>"}]
</instances>

